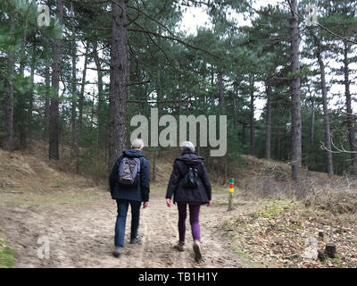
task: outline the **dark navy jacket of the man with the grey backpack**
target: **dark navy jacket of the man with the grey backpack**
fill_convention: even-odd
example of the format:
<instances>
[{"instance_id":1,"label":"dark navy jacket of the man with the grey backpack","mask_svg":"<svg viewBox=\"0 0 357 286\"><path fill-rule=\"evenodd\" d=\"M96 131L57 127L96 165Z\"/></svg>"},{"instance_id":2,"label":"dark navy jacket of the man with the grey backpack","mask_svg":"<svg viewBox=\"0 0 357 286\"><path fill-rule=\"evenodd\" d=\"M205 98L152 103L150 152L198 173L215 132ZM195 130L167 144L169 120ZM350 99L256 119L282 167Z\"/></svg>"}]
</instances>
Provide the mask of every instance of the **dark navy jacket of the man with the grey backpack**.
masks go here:
<instances>
[{"instance_id":1,"label":"dark navy jacket of the man with the grey backpack","mask_svg":"<svg viewBox=\"0 0 357 286\"><path fill-rule=\"evenodd\" d=\"M122 158L135 157L140 160L140 180L136 186L123 186L118 183L118 172ZM150 166L149 161L139 150L126 150L120 156L117 162L112 167L112 172L109 177L109 185L111 187L112 199L124 198L129 200L137 200L140 202L149 201L150 193Z\"/></svg>"}]
</instances>

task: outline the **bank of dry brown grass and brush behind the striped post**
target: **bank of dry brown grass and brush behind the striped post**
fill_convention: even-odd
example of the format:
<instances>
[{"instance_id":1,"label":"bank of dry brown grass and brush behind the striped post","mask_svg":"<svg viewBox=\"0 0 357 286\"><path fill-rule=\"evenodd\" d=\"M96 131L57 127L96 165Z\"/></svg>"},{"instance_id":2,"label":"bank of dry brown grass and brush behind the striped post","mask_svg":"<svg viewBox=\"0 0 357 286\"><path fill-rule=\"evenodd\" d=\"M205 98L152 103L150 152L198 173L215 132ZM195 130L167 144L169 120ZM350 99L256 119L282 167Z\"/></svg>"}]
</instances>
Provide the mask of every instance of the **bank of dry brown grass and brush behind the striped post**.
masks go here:
<instances>
[{"instance_id":1,"label":"bank of dry brown grass and brush behind the striped post","mask_svg":"<svg viewBox=\"0 0 357 286\"><path fill-rule=\"evenodd\" d=\"M332 176L326 173L311 172L302 169L302 181L295 184L291 181L289 164L245 156L248 168L238 183L246 198L287 198L311 201L312 205L326 205L331 209L334 202L341 206L336 213L356 211L354 206L357 195L357 181L353 177ZM237 171L242 172L242 171ZM351 203L347 206L344 203Z\"/></svg>"}]
</instances>

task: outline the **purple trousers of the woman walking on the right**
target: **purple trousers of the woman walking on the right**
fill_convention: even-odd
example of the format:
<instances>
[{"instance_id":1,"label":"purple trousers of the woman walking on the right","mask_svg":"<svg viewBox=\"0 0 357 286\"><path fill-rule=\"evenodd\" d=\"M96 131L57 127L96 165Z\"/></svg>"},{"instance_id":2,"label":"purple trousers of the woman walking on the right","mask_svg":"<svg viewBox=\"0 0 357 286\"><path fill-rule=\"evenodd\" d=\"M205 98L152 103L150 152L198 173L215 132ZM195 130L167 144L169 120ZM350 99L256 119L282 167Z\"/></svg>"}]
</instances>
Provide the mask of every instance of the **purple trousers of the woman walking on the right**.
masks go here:
<instances>
[{"instance_id":1,"label":"purple trousers of the woman walking on the right","mask_svg":"<svg viewBox=\"0 0 357 286\"><path fill-rule=\"evenodd\" d=\"M186 218L187 218L187 205L189 208L190 214L190 224L192 237L194 240L201 240L201 231L200 231L200 205L199 204L187 204L187 203L179 203L179 242L185 242L185 234L186 234Z\"/></svg>"}]
</instances>

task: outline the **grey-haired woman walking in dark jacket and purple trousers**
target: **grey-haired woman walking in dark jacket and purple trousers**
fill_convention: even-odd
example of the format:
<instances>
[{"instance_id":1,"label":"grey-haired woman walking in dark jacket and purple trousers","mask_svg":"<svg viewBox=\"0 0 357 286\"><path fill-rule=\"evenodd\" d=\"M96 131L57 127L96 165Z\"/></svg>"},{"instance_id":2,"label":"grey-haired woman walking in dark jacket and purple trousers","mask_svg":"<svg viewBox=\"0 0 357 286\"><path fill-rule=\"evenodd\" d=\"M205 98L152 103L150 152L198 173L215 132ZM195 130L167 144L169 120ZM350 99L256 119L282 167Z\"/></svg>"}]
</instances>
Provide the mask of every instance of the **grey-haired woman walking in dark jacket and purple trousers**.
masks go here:
<instances>
[{"instance_id":1,"label":"grey-haired woman walking in dark jacket and purple trousers","mask_svg":"<svg viewBox=\"0 0 357 286\"><path fill-rule=\"evenodd\" d=\"M174 248L184 251L186 235L187 205L189 208L192 237L194 240L195 261L202 259L201 230L199 224L200 206L212 204L212 188L202 157L195 154L192 142L181 143L182 154L176 158L166 193L166 204L178 203L179 243Z\"/></svg>"}]
</instances>

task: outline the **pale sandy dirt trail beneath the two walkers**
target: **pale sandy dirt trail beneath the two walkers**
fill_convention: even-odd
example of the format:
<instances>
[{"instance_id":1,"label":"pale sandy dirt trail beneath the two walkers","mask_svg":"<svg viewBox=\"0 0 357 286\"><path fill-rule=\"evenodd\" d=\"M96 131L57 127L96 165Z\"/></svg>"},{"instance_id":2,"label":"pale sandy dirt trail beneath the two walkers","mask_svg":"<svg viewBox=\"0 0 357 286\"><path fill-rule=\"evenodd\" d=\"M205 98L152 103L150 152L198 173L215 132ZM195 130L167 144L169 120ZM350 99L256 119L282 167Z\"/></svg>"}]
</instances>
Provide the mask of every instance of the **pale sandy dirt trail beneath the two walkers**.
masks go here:
<instances>
[{"instance_id":1,"label":"pale sandy dirt trail beneath the two walkers","mask_svg":"<svg viewBox=\"0 0 357 286\"><path fill-rule=\"evenodd\" d=\"M15 248L17 267L250 267L227 248L227 235L221 230L222 222L247 206L228 213L227 206L217 201L220 196L213 197L217 202L213 206L201 208L203 261L199 264L194 260L188 219L187 250L172 248L178 240L178 211L176 206L166 207L162 195L153 194L150 206L142 209L139 233L143 241L137 245L129 244L128 215L126 245L119 259L112 257L116 204L107 194L80 205L0 203L0 230ZM37 257L37 240L43 236L50 242L49 259Z\"/></svg>"}]
</instances>

